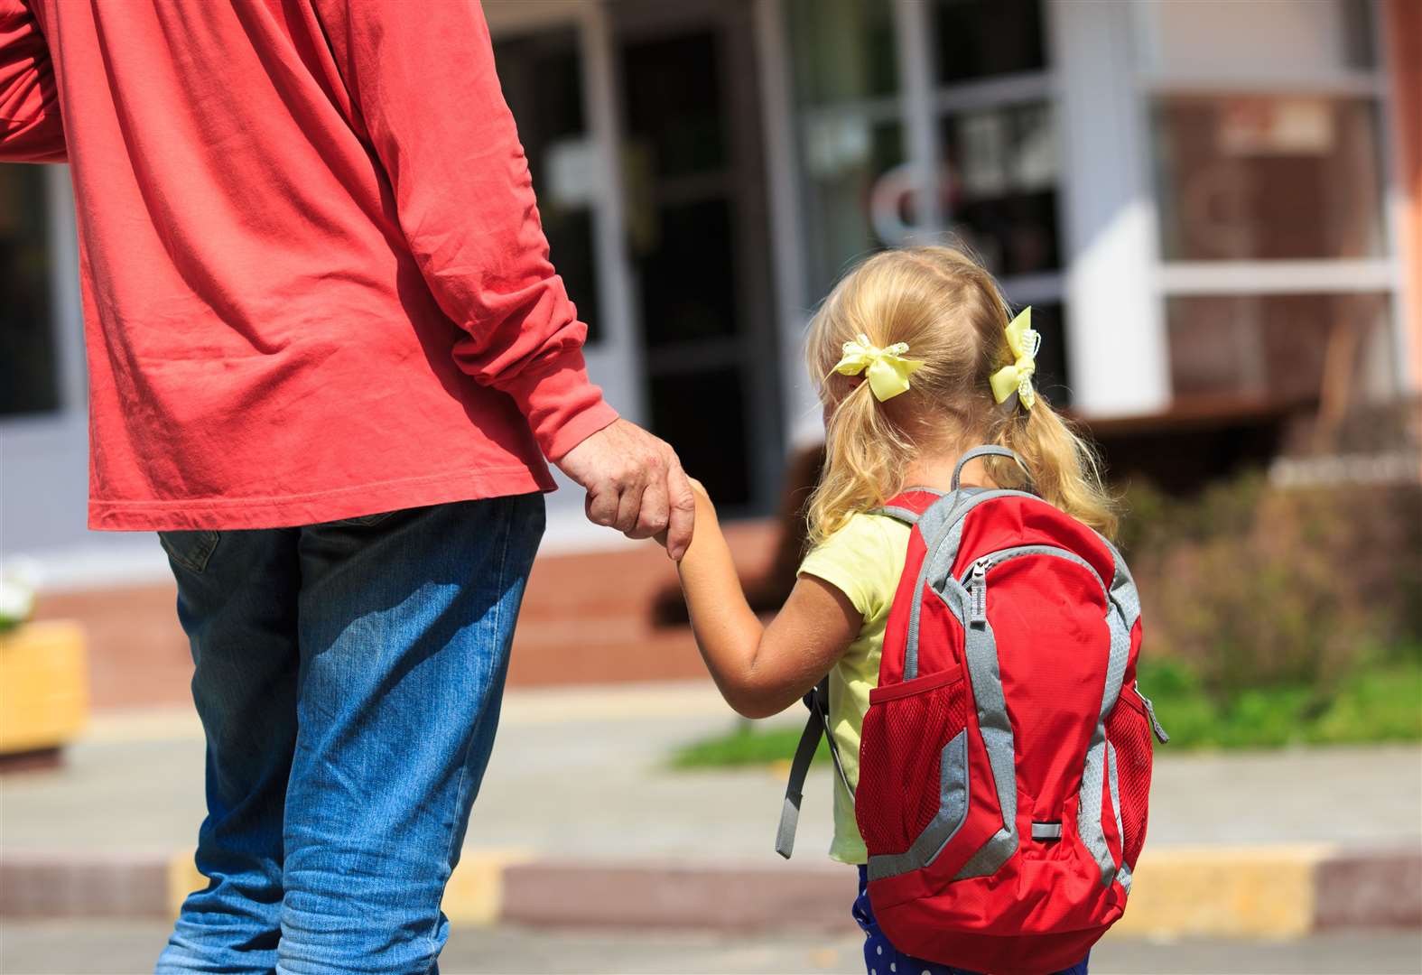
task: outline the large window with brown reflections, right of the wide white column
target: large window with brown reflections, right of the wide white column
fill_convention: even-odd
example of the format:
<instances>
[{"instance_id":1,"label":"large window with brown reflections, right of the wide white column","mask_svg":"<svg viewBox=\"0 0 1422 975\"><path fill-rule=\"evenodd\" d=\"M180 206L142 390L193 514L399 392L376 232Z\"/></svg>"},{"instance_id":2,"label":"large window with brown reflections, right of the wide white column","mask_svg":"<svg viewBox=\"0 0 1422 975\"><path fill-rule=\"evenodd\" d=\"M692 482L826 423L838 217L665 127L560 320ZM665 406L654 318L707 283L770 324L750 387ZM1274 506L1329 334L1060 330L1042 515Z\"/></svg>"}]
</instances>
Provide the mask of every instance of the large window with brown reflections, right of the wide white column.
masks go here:
<instances>
[{"instance_id":1,"label":"large window with brown reflections, right of the wide white column","mask_svg":"<svg viewBox=\"0 0 1422 975\"><path fill-rule=\"evenodd\" d=\"M1386 389L1391 341L1372 4L1142 10L1176 399Z\"/></svg>"}]
</instances>

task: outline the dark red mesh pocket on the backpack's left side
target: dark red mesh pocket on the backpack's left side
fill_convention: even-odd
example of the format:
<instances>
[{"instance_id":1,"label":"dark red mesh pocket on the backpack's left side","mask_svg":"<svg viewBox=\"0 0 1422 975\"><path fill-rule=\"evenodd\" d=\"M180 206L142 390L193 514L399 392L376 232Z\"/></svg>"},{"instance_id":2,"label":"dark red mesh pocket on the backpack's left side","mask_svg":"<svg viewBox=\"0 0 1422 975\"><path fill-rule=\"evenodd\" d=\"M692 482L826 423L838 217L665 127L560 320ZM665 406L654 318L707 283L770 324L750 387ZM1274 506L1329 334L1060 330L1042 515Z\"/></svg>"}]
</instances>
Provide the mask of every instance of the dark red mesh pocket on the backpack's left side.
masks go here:
<instances>
[{"instance_id":1,"label":"dark red mesh pocket on the backpack's left side","mask_svg":"<svg viewBox=\"0 0 1422 975\"><path fill-rule=\"evenodd\" d=\"M884 691L865 715L855 790L855 817L872 856L906 851L939 814L943 749L967 725L961 672Z\"/></svg>"}]
</instances>

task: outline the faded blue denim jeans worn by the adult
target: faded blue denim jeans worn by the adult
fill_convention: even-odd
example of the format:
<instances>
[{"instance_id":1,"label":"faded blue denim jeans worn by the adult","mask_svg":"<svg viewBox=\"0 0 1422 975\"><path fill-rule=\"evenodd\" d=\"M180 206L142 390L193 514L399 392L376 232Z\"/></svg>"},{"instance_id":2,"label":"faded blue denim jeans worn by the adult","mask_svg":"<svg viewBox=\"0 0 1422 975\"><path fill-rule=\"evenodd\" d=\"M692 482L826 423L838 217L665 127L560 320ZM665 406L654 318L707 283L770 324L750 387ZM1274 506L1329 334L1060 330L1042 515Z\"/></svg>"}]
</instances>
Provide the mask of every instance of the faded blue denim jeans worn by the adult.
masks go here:
<instances>
[{"instance_id":1,"label":"faded blue denim jeans worn by the adult","mask_svg":"<svg viewBox=\"0 0 1422 975\"><path fill-rule=\"evenodd\" d=\"M438 972L539 495L165 532L208 739L158 972Z\"/></svg>"}]
</instances>

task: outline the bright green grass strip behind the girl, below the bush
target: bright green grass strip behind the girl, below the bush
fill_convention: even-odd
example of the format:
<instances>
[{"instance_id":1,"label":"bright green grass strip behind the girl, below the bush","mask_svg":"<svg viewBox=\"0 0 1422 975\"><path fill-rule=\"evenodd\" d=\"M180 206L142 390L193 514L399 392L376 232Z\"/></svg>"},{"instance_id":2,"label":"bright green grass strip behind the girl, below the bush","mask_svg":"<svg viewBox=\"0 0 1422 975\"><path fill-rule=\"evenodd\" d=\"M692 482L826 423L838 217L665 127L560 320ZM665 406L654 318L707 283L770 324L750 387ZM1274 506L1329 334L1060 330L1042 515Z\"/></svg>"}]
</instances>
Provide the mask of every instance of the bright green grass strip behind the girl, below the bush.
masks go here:
<instances>
[{"instance_id":1,"label":"bright green grass strip behind the girl, below the bush","mask_svg":"<svg viewBox=\"0 0 1422 975\"><path fill-rule=\"evenodd\" d=\"M1399 648L1359 668L1322 702L1308 686L1250 688L1219 702L1173 661L1146 662L1140 689L1170 733L1158 753L1422 740L1422 647ZM798 726L741 722L729 733L678 748L670 763L675 769L771 765L789 760L799 735ZM823 742L815 759L829 760Z\"/></svg>"}]
</instances>

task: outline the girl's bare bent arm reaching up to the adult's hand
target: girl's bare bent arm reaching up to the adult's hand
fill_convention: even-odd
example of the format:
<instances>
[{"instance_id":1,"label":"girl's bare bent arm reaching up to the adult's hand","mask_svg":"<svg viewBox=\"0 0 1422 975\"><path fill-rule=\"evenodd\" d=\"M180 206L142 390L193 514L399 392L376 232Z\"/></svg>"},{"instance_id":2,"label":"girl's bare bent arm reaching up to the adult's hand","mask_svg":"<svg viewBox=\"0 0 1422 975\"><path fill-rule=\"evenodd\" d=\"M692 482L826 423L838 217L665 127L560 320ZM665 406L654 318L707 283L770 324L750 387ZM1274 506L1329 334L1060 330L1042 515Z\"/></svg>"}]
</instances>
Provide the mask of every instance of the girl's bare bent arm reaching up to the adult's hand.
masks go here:
<instances>
[{"instance_id":1,"label":"girl's bare bent arm reaching up to the adult's hand","mask_svg":"<svg viewBox=\"0 0 1422 975\"><path fill-rule=\"evenodd\" d=\"M829 672L863 617L838 588L802 576L785 607L762 627L741 591L715 507L700 483L693 488L697 527L678 571L697 647L727 704L747 718L766 718Z\"/></svg>"}]
</instances>

